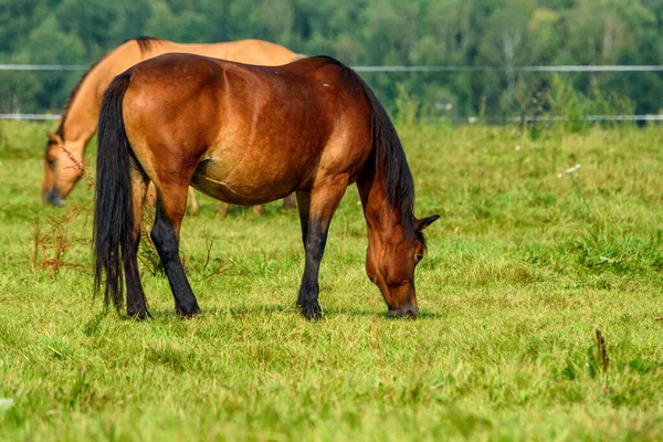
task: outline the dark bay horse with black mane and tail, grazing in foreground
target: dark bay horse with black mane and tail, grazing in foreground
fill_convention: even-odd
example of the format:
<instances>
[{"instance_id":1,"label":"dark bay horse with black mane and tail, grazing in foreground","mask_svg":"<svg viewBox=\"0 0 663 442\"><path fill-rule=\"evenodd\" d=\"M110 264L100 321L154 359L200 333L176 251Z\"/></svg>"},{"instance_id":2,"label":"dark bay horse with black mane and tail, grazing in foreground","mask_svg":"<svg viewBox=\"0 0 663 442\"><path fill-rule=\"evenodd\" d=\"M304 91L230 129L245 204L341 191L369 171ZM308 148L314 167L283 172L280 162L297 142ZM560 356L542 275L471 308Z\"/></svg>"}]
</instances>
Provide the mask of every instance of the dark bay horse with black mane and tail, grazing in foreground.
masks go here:
<instances>
[{"instance_id":1,"label":"dark bay horse with black mane and tail, grazing in foreground","mask_svg":"<svg viewBox=\"0 0 663 442\"><path fill-rule=\"evenodd\" d=\"M297 305L318 318L318 271L327 230L346 188L357 182L368 227L366 271L392 316L417 317L414 267L422 230L414 188L393 125L372 91L329 57L284 66L166 54L118 75L99 118L95 283L105 302L144 318L138 274L143 201L157 189L151 238L178 314L199 313L179 256L187 187L233 204L296 192L305 266Z\"/></svg>"}]
</instances>

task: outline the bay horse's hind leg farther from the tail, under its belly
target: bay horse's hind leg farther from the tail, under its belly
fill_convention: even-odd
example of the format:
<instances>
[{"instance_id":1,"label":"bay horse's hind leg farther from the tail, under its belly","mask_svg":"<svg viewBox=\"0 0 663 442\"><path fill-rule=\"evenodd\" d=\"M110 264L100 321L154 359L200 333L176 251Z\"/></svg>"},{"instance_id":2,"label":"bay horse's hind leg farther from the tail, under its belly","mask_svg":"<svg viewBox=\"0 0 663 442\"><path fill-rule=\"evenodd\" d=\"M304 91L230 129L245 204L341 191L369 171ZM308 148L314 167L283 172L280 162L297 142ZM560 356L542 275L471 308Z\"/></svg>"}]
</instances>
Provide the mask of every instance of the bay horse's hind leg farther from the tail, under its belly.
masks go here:
<instances>
[{"instance_id":1,"label":"bay horse's hind leg farther from the tail, under its belly","mask_svg":"<svg viewBox=\"0 0 663 442\"><path fill-rule=\"evenodd\" d=\"M183 316L192 316L200 313L200 308L179 256L179 232L187 211L187 187L188 182L157 187L157 214L151 239L172 290L175 311Z\"/></svg>"}]
</instances>

